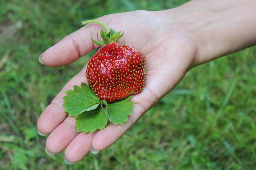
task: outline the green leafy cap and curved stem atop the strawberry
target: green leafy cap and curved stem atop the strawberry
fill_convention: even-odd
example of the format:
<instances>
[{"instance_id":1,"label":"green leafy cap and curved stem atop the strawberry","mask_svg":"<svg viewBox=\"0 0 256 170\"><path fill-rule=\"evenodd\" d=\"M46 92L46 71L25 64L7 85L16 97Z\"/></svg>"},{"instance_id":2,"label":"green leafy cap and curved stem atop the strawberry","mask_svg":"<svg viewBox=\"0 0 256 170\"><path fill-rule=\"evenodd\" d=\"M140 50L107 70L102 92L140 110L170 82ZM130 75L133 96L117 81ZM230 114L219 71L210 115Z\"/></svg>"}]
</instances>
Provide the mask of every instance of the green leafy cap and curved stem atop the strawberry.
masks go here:
<instances>
[{"instance_id":1,"label":"green leafy cap and curved stem atop the strawberry","mask_svg":"<svg viewBox=\"0 0 256 170\"><path fill-rule=\"evenodd\" d=\"M112 28L109 29L106 26L106 24L102 23L99 20L85 20L84 22L82 22L82 25L86 25L89 23L101 24L102 27L104 27L106 29L106 31L101 29L100 35L101 35L102 41L100 41L100 39L98 38L98 35L97 35L97 41L92 39L92 41L96 45L104 46L106 44L112 44L112 42L118 42L118 40L121 39L121 37L123 36L123 32L121 34L121 31L115 32Z\"/></svg>"}]
</instances>

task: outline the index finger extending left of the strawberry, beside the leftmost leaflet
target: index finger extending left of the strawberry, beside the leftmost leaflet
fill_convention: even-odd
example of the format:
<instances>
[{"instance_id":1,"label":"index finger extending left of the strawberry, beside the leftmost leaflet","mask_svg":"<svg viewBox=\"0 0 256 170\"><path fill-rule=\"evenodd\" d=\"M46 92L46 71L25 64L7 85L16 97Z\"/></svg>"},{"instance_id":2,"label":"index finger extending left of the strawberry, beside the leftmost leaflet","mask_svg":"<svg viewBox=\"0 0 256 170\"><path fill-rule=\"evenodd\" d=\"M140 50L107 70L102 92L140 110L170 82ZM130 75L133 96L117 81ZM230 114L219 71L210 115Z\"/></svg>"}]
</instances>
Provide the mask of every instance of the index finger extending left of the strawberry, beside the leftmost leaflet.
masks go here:
<instances>
[{"instance_id":1,"label":"index finger extending left of the strawberry, beside the leftmost leaflet","mask_svg":"<svg viewBox=\"0 0 256 170\"><path fill-rule=\"evenodd\" d=\"M53 131L61 122L68 116L63 107L63 96L67 90L72 90L74 85L80 86L81 82L87 82L85 78L85 69L82 69L79 74L74 76L52 100L52 103L43 111L38 119L38 130L43 134L48 134Z\"/></svg>"}]
</instances>

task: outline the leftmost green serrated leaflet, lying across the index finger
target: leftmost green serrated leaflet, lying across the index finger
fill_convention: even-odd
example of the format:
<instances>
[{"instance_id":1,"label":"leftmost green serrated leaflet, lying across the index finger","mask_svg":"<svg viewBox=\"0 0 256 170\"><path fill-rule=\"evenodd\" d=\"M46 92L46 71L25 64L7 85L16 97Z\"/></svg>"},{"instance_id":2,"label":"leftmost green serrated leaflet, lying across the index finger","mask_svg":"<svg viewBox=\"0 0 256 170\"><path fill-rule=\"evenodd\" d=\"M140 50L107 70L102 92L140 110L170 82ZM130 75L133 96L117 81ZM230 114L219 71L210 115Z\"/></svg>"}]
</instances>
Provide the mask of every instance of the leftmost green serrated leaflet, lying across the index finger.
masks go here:
<instances>
[{"instance_id":1,"label":"leftmost green serrated leaflet, lying across the index finger","mask_svg":"<svg viewBox=\"0 0 256 170\"><path fill-rule=\"evenodd\" d=\"M66 91L67 96L63 97L65 101L63 106L69 116L77 116L77 114L100 103L100 99L90 90L87 84L81 83L81 87L73 86L73 88L74 90Z\"/></svg>"}]
</instances>

